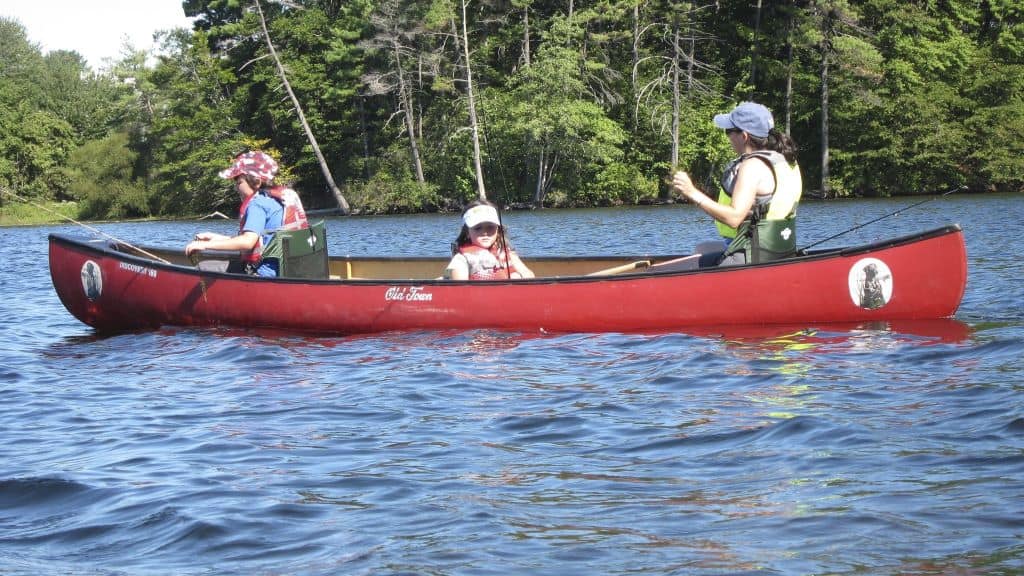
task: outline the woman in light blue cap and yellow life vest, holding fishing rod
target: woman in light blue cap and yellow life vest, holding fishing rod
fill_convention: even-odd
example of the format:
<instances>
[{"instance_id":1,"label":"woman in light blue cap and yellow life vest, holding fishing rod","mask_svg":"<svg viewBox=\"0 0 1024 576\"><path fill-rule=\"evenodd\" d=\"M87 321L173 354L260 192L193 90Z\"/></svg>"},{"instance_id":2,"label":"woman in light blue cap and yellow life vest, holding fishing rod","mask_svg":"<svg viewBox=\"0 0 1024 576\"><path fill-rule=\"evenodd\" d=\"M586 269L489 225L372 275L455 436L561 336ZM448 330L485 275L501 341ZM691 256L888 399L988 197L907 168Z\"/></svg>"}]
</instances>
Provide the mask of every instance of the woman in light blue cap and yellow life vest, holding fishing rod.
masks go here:
<instances>
[{"instance_id":1,"label":"woman in light blue cap and yellow life vest, holding fishing rod","mask_svg":"<svg viewBox=\"0 0 1024 576\"><path fill-rule=\"evenodd\" d=\"M676 172L673 189L715 218L728 245L705 253L699 265L733 265L792 256L797 246L797 204L803 191L797 146L775 129L771 112L742 102L715 116L732 150L739 155L722 174L718 200L693 186L686 172Z\"/></svg>"}]
</instances>

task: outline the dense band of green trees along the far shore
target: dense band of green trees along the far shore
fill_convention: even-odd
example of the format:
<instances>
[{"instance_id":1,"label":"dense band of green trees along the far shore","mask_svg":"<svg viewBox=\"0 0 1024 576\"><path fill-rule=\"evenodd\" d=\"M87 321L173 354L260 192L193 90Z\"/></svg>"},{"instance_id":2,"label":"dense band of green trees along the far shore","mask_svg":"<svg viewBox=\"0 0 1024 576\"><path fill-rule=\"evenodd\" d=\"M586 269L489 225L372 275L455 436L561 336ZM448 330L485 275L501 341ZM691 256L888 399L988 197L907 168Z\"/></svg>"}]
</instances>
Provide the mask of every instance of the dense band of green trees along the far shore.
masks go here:
<instances>
[{"instance_id":1,"label":"dense band of green trees along the far shore","mask_svg":"<svg viewBox=\"0 0 1024 576\"><path fill-rule=\"evenodd\" d=\"M343 212L666 200L753 99L807 194L1024 190L1019 0L184 0L100 71L0 18L0 184L88 217L232 210L261 149ZM112 16L116 17L116 16ZM0 202L6 201L0 199Z\"/></svg>"}]
</instances>

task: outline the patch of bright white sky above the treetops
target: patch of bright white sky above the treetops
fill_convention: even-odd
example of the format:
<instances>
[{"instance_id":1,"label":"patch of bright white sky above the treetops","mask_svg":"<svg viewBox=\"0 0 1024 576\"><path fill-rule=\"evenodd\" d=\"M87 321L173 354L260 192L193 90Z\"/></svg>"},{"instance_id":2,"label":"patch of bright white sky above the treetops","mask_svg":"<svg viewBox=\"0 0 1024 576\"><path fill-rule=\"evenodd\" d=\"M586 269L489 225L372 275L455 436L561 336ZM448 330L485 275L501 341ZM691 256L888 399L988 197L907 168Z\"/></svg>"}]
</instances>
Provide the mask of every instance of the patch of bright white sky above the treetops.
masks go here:
<instances>
[{"instance_id":1,"label":"patch of bright white sky above the treetops","mask_svg":"<svg viewBox=\"0 0 1024 576\"><path fill-rule=\"evenodd\" d=\"M154 32L190 28L181 0L0 0L0 16L20 22L44 54L75 50L97 71L125 40L147 50Z\"/></svg>"}]
</instances>

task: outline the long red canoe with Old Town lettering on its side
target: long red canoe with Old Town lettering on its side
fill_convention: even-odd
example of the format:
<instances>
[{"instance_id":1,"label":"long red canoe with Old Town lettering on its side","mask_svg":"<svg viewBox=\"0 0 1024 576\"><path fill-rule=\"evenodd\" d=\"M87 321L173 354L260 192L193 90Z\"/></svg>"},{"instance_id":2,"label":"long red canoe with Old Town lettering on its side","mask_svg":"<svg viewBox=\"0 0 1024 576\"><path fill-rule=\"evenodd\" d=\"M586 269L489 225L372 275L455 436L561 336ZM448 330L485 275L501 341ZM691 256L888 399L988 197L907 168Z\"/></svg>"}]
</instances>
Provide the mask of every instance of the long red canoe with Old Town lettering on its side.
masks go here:
<instances>
[{"instance_id":1,"label":"long red canoe with Old Town lettering on its side","mask_svg":"<svg viewBox=\"0 0 1024 576\"><path fill-rule=\"evenodd\" d=\"M967 284L956 224L696 272L671 272L665 262L678 256L529 258L538 278L498 282L440 280L446 258L328 260L321 252L319 278L263 279L200 271L180 250L62 235L49 245L60 301L101 332L161 325L639 332L920 320L952 316Z\"/></svg>"}]
</instances>

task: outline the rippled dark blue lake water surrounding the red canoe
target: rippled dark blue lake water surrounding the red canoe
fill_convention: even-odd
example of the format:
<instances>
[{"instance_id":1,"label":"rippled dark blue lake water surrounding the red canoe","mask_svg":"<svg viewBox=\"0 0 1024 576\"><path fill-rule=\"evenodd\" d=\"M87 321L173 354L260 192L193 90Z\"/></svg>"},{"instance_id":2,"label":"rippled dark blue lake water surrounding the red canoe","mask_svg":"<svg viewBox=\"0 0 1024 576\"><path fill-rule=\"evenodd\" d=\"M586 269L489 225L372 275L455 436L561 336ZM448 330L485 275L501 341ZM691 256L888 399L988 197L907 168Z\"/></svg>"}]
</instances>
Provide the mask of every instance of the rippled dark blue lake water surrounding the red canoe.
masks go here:
<instances>
[{"instance_id":1,"label":"rippled dark blue lake water surrounding the red canoe","mask_svg":"<svg viewBox=\"0 0 1024 576\"><path fill-rule=\"evenodd\" d=\"M805 203L801 244L912 202ZM98 337L46 260L88 232L0 229L0 574L1020 574L1022 216L947 197L829 242L959 222L953 321L702 334ZM527 259L713 234L689 206L506 219ZM329 243L443 255L458 223Z\"/></svg>"}]
</instances>

